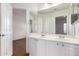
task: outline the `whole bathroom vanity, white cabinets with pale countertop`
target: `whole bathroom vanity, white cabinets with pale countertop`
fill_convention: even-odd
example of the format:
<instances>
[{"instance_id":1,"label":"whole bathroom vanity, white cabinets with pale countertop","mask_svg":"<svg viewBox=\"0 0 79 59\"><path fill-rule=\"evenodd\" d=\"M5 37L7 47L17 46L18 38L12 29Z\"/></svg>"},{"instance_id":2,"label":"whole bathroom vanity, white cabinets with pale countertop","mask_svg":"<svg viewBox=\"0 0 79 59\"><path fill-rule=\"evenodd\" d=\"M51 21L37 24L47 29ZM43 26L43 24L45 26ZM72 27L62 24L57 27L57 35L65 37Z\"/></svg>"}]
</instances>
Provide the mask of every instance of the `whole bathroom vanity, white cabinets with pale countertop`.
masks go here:
<instances>
[{"instance_id":1,"label":"whole bathroom vanity, white cabinets with pale countertop","mask_svg":"<svg viewBox=\"0 0 79 59\"><path fill-rule=\"evenodd\" d=\"M79 39L57 34L35 34L29 36L31 56L79 56Z\"/></svg>"}]
</instances>

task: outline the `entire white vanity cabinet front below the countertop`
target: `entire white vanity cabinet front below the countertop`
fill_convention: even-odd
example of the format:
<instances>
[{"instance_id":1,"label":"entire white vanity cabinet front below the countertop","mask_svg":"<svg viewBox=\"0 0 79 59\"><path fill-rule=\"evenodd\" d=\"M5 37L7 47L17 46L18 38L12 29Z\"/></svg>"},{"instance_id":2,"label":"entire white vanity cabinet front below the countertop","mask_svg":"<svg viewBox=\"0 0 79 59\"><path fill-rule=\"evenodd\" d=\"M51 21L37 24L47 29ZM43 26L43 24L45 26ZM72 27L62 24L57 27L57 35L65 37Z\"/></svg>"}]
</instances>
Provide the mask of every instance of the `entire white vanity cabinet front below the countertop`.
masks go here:
<instances>
[{"instance_id":1,"label":"entire white vanity cabinet front below the countertop","mask_svg":"<svg viewBox=\"0 0 79 59\"><path fill-rule=\"evenodd\" d=\"M79 45L45 39L29 39L31 56L79 56Z\"/></svg>"}]
</instances>

